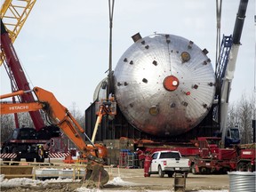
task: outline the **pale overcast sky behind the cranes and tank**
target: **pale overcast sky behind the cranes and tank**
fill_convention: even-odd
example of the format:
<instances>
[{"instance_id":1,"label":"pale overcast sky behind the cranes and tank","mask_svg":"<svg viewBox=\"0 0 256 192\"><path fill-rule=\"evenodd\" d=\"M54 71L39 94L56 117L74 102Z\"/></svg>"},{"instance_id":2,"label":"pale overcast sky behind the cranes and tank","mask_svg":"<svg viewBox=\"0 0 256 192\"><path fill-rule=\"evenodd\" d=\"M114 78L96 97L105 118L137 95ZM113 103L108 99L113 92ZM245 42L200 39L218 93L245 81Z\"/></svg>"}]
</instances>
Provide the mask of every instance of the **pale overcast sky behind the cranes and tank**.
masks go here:
<instances>
[{"instance_id":1,"label":"pale overcast sky behind the cranes and tank","mask_svg":"<svg viewBox=\"0 0 256 192\"><path fill-rule=\"evenodd\" d=\"M231 35L239 0L222 4L221 36ZM255 1L249 0L236 61L230 100L252 94L255 71ZM95 87L107 76L108 0L38 0L14 43L30 87L54 93L67 108L83 111L92 102ZM113 27L113 69L132 44L134 34L183 36L215 65L215 0L116 0ZM4 66L1 94L11 92Z\"/></svg>"}]
</instances>

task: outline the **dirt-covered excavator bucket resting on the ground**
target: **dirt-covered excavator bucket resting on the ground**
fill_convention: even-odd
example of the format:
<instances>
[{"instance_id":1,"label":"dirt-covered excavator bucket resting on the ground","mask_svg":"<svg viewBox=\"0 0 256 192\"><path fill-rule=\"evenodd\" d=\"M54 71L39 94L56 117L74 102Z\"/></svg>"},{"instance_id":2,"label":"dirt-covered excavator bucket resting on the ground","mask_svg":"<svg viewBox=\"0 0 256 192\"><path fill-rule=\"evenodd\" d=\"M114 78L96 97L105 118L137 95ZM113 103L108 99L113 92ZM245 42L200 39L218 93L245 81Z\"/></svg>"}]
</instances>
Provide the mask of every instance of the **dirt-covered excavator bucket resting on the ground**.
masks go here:
<instances>
[{"instance_id":1,"label":"dirt-covered excavator bucket resting on the ground","mask_svg":"<svg viewBox=\"0 0 256 192\"><path fill-rule=\"evenodd\" d=\"M101 164L88 164L82 187L102 188L109 180L108 172Z\"/></svg>"}]
</instances>

